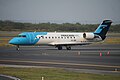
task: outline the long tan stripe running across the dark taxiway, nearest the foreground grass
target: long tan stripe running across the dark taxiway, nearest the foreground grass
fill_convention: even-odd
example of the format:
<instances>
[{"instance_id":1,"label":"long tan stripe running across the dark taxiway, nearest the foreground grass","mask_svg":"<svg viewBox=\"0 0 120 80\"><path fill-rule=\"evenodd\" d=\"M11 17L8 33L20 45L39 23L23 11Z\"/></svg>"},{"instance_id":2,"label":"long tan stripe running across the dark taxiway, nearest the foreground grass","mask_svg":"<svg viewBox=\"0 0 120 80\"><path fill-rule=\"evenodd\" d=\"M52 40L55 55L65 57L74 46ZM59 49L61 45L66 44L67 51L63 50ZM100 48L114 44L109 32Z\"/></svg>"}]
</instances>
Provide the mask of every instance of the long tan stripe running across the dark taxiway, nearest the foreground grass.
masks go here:
<instances>
[{"instance_id":1,"label":"long tan stripe running across the dark taxiway, nearest the foreground grass","mask_svg":"<svg viewBox=\"0 0 120 80\"><path fill-rule=\"evenodd\" d=\"M0 60L3 62L21 62L21 63L39 63L39 64L61 64L61 65L73 65L73 66L93 66L93 67L109 67L109 68L120 68L120 66L110 65L96 65L96 64L77 64L77 63L64 63L64 62L38 62L38 61L23 61L23 60Z\"/></svg>"}]
</instances>

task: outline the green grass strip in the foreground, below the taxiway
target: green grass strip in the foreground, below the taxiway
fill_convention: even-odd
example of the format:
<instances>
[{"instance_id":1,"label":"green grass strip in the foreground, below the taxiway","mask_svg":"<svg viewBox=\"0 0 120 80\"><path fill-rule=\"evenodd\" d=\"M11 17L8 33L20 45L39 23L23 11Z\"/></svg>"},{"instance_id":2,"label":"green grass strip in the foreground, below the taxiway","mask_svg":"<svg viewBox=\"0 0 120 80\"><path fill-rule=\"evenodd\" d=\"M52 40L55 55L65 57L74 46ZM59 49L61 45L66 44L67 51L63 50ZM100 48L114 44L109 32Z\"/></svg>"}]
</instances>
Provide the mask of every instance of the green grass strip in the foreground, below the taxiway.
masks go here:
<instances>
[{"instance_id":1,"label":"green grass strip in the foreground, below the taxiway","mask_svg":"<svg viewBox=\"0 0 120 80\"><path fill-rule=\"evenodd\" d=\"M119 75L78 73L56 68L12 68L0 67L0 74L18 77L22 80L120 80Z\"/></svg>"}]
</instances>

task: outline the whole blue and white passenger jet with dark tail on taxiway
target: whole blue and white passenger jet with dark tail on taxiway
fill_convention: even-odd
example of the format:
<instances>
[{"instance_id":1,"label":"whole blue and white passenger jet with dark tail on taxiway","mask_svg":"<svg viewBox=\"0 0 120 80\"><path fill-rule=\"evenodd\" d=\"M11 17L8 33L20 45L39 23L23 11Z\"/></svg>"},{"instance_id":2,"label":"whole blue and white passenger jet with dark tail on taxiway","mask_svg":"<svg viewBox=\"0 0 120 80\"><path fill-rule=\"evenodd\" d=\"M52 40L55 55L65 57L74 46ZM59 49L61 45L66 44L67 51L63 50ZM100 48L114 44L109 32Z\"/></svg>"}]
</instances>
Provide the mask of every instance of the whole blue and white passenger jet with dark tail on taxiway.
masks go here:
<instances>
[{"instance_id":1,"label":"whole blue and white passenger jet with dark tail on taxiway","mask_svg":"<svg viewBox=\"0 0 120 80\"><path fill-rule=\"evenodd\" d=\"M9 44L19 46L47 45L62 50L63 46L71 50L73 45L88 45L103 41L111 25L111 20L103 20L94 32L23 32L12 38Z\"/></svg>"}]
</instances>

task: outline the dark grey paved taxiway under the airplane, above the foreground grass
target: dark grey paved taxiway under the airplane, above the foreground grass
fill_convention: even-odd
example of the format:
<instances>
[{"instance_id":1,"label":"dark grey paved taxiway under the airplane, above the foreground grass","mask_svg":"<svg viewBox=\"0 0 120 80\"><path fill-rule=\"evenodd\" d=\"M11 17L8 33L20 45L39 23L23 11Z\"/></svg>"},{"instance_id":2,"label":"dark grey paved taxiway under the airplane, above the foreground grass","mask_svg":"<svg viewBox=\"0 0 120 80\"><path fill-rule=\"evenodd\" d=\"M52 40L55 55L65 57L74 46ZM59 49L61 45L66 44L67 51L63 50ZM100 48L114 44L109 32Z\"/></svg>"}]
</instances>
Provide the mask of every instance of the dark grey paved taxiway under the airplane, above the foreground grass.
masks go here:
<instances>
[{"instance_id":1,"label":"dark grey paved taxiway under the airplane, above the foreground grass","mask_svg":"<svg viewBox=\"0 0 120 80\"><path fill-rule=\"evenodd\" d=\"M15 47L0 47L0 65L116 70L120 74L120 45L73 46L72 50L36 46L20 47L20 51Z\"/></svg>"}]
</instances>

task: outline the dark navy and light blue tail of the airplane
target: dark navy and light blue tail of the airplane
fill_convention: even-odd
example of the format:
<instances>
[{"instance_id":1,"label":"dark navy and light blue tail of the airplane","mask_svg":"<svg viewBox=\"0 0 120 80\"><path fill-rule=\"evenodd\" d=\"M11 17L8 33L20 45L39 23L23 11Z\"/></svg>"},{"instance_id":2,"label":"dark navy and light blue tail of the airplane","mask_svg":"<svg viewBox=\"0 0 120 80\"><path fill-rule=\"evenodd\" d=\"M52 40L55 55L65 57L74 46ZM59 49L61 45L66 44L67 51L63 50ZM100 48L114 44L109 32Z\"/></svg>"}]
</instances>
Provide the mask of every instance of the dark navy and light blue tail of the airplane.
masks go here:
<instances>
[{"instance_id":1,"label":"dark navy and light blue tail of the airplane","mask_svg":"<svg viewBox=\"0 0 120 80\"><path fill-rule=\"evenodd\" d=\"M108 32L111 23L111 20L104 20L95 30L94 34L99 35L102 38L102 40L104 40L106 38L106 33Z\"/></svg>"}]
</instances>

